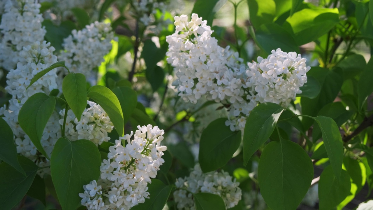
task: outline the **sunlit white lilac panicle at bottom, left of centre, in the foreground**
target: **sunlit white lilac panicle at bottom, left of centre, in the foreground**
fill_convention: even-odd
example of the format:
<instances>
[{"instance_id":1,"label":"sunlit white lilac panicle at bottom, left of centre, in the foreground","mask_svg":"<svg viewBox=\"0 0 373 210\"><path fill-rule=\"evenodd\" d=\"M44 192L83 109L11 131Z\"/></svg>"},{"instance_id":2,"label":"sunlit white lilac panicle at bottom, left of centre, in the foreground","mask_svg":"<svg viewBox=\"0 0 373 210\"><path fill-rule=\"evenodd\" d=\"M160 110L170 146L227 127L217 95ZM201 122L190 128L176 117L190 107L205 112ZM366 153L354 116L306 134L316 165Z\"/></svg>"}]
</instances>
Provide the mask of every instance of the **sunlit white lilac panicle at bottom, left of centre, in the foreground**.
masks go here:
<instances>
[{"instance_id":1,"label":"sunlit white lilac panicle at bottom, left of centre, in the foreground","mask_svg":"<svg viewBox=\"0 0 373 210\"><path fill-rule=\"evenodd\" d=\"M131 131L131 135L115 140L108 159L101 163L100 179L83 186L84 193L79 196L88 210L129 210L152 196L147 185L164 163L162 155L167 148L160 145L164 131L151 125L137 128L135 134ZM126 140L125 146L122 140Z\"/></svg>"}]
</instances>

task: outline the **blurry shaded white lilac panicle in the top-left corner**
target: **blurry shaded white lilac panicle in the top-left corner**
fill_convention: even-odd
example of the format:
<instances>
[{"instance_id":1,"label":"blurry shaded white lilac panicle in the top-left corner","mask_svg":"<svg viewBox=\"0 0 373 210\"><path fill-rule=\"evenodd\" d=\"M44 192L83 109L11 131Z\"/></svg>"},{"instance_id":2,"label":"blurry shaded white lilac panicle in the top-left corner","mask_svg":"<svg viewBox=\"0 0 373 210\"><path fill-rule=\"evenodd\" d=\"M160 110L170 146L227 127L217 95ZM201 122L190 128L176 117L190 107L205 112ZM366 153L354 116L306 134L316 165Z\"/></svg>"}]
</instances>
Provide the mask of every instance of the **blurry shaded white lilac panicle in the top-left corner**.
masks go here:
<instances>
[{"instance_id":1,"label":"blurry shaded white lilac panicle in the top-left corner","mask_svg":"<svg viewBox=\"0 0 373 210\"><path fill-rule=\"evenodd\" d=\"M0 24L0 66L6 70L21 62L19 52L37 41L43 42L46 30L40 4L34 0L4 0L4 14ZM0 8L1 9L1 8Z\"/></svg>"}]
</instances>

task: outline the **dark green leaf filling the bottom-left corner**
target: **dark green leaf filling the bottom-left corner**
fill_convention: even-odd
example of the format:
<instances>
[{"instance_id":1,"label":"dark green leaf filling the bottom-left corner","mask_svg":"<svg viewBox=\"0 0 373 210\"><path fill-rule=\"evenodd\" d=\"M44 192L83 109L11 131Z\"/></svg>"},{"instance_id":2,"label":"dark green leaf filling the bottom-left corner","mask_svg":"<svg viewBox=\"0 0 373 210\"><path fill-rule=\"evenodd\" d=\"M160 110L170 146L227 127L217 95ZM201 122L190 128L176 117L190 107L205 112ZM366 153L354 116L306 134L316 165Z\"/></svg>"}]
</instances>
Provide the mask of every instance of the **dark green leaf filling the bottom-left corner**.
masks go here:
<instances>
[{"instance_id":1,"label":"dark green leaf filling the bottom-left corner","mask_svg":"<svg viewBox=\"0 0 373 210\"><path fill-rule=\"evenodd\" d=\"M30 159L18 156L18 161L26 176L3 162L0 164L0 206L10 210L26 195L36 175L38 167Z\"/></svg>"}]
</instances>

